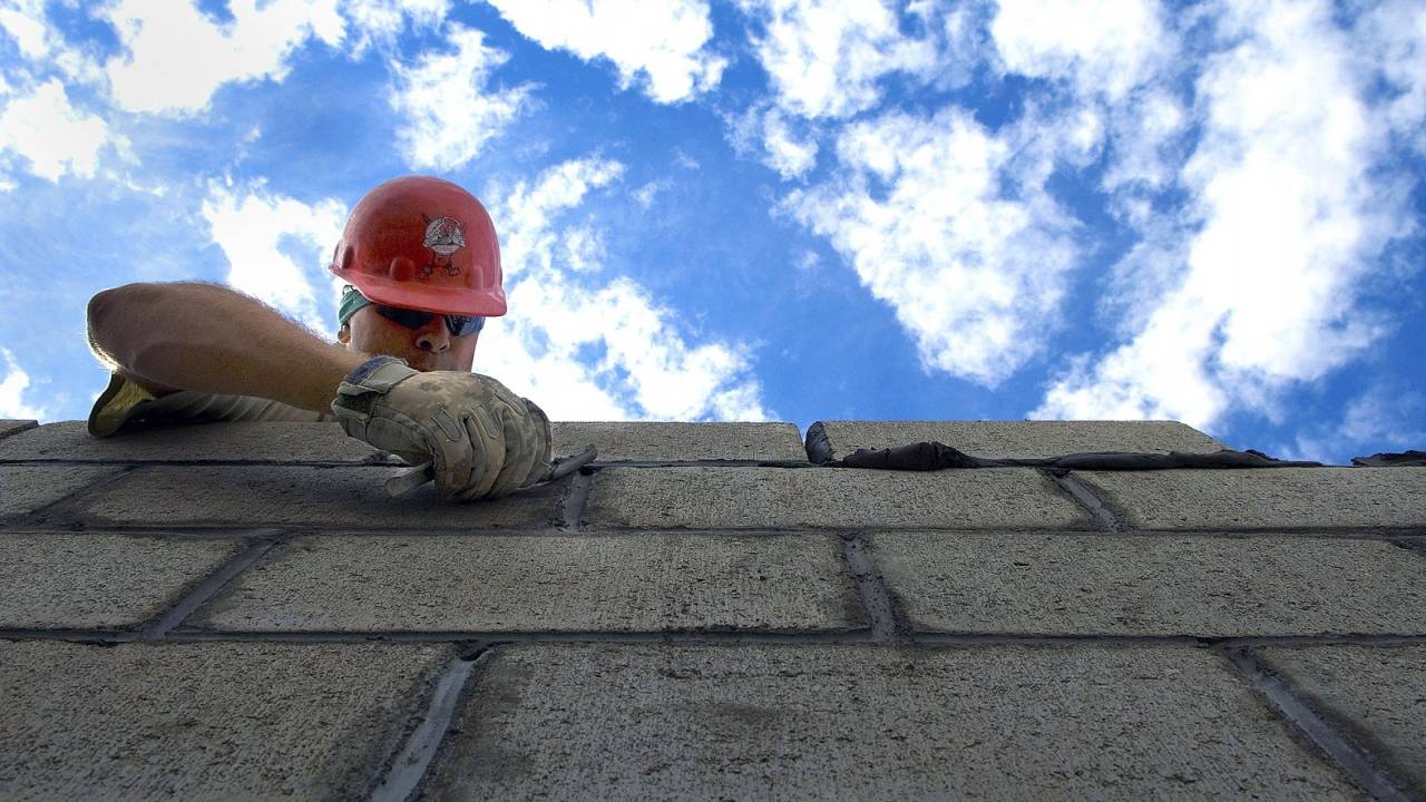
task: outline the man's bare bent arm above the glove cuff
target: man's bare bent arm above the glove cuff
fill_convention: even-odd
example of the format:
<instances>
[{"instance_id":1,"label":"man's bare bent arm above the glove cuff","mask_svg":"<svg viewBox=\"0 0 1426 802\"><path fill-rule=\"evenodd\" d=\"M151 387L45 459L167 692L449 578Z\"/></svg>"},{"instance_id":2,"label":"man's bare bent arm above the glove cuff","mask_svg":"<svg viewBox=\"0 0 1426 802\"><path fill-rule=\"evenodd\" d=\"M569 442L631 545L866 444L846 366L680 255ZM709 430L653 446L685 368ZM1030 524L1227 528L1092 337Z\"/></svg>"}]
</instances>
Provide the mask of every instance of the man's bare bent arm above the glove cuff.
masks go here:
<instances>
[{"instance_id":1,"label":"man's bare bent arm above the glove cuff","mask_svg":"<svg viewBox=\"0 0 1426 802\"><path fill-rule=\"evenodd\" d=\"M368 358L321 340L255 298L214 284L127 284L90 298L94 354L155 394L258 395L329 412Z\"/></svg>"}]
</instances>

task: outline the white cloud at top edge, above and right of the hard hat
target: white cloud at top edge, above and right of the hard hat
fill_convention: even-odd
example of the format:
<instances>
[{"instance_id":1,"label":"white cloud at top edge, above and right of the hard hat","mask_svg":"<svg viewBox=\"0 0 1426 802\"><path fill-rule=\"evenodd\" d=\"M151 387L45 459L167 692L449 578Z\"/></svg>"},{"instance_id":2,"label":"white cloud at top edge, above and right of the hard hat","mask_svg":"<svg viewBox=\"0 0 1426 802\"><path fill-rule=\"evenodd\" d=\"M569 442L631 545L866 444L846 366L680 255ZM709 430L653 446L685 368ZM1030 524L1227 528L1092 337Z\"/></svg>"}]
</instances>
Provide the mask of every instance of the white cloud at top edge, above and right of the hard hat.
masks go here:
<instances>
[{"instance_id":1,"label":"white cloud at top edge, above and right of the hard hat","mask_svg":"<svg viewBox=\"0 0 1426 802\"><path fill-rule=\"evenodd\" d=\"M589 61L605 57L623 87L642 77L649 97L677 103L717 86L726 59L704 50L713 37L703 0L491 0L522 34L548 50Z\"/></svg>"}]
</instances>

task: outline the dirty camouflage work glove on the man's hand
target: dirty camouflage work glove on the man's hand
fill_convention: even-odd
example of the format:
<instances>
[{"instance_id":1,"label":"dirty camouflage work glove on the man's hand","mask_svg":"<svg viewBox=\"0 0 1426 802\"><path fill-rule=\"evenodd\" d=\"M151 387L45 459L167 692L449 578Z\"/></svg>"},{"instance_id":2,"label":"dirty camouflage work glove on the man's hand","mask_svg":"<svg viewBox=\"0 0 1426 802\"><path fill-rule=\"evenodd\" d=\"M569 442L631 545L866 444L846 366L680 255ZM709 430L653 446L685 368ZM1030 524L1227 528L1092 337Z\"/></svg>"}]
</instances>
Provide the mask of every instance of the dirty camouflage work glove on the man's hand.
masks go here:
<instances>
[{"instance_id":1,"label":"dirty camouflage work glove on the man's hand","mask_svg":"<svg viewBox=\"0 0 1426 802\"><path fill-rule=\"evenodd\" d=\"M549 469L549 418L488 375L375 357L342 380L332 414L356 440L432 462L445 498L508 495Z\"/></svg>"}]
</instances>

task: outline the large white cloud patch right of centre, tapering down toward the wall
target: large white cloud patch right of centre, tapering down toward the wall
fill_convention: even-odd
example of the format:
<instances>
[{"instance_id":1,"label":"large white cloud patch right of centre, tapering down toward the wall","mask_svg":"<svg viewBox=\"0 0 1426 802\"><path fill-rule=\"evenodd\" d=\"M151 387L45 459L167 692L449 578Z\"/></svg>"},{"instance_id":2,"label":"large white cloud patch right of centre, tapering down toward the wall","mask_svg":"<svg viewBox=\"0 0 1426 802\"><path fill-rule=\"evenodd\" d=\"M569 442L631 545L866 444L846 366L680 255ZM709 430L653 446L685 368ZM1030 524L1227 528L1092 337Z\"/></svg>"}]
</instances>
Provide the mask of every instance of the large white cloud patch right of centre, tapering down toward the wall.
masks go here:
<instances>
[{"instance_id":1,"label":"large white cloud patch right of centre, tapering down toward the wall","mask_svg":"<svg viewBox=\"0 0 1426 802\"><path fill-rule=\"evenodd\" d=\"M961 110L886 114L848 126L838 174L786 208L891 304L924 365L992 385L1042 347L1077 258L1018 148Z\"/></svg>"}]
</instances>

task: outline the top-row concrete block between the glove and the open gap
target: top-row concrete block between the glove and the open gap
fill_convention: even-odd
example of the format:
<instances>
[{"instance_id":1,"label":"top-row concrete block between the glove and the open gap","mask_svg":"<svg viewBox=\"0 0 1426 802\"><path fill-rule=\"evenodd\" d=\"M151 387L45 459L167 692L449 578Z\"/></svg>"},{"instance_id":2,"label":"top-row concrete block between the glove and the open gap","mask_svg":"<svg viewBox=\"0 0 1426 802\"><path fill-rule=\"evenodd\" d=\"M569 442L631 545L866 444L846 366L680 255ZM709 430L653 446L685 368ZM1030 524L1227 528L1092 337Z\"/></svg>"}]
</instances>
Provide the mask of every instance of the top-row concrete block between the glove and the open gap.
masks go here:
<instances>
[{"instance_id":1,"label":"top-row concrete block between the glove and the open gap","mask_svg":"<svg viewBox=\"0 0 1426 802\"><path fill-rule=\"evenodd\" d=\"M556 421L550 428L556 455L597 445L600 462L807 460L801 434L793 424Z\"/></svg>"}]
</instances>

